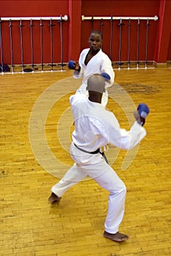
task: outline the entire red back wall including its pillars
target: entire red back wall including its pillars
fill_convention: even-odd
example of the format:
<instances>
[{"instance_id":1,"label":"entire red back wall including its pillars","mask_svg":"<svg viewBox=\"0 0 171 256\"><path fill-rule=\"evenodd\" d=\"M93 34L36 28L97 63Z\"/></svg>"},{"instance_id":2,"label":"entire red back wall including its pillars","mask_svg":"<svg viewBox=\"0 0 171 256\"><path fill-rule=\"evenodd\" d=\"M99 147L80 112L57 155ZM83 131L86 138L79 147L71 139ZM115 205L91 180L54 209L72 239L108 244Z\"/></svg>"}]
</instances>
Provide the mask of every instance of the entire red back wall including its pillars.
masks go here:
<instances>
[{"instance_id":1,"label":"entire red back wall including its pillars","mask_svg":"<svg viewBox=\"0 0 171 256\"><path fill-rule=\"evenodd\" d=\"M161 7L164 7L162 9ZM85 16L114 17L153 17L159 15L159 20L149 20L148 26L148 60L166 62L170 58L170 0L56 0L56 1L0 1L1 17L51 17L68 15L69 20L62 22L63 26L63 61L70 58L78 59L80 50L88 48L88 36L92 30L90 20L81 21ZM122 20L121 27L121 61L128 60L128 20ZM34 20L34 63L41 61L40 24ZM113 21L113 45L111 59L119 59L119 20ZM147 20L140 20L140 52L139 60L145 61ZM43 20L43 61L50 63L50 20ZM53 21L53 62L61 62L60 23ZM12 43L14 64L21 64L20 53L20 22L12 21ZM29 21L23 21L23 60L31 64L31 33ZM102 26L103 25L103 26ZM95 20L94 29L103 29L103 50L110 56L110 20ZM4 63L11 63L9 22L1 21L2 45ZM130 59L137 61L137 21L131 21ZM1 53L0 53L1 58Z\"/></svg>"}]
</instances>

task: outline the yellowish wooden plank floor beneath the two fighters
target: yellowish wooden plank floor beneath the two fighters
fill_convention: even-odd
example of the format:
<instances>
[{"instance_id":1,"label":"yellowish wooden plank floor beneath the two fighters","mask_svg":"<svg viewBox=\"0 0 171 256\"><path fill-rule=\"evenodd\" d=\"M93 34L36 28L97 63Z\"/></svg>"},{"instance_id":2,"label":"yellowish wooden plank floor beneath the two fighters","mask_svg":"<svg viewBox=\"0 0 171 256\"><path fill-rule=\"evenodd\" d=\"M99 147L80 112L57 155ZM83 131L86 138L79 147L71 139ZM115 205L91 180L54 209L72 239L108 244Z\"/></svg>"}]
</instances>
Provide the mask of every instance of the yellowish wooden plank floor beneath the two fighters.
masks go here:
<instances>
[{"instance_id":1,"label":"yellowish wooden plank floor beneath the two fighters","mask_svg":"<svg viewBox=\"0 0 171 256\"><path fill-rule=\"evenodd\" d=\"M129 129L140 102L148 135L110 164L127 187L123 244L103 237L108 192L85 179L50 206L50 188L72 165L69 95L80 80L64 72L1 75L0 255L164 256L170 246L171 69L115 70L107 105Z\"/></svg>"}]
</instances>

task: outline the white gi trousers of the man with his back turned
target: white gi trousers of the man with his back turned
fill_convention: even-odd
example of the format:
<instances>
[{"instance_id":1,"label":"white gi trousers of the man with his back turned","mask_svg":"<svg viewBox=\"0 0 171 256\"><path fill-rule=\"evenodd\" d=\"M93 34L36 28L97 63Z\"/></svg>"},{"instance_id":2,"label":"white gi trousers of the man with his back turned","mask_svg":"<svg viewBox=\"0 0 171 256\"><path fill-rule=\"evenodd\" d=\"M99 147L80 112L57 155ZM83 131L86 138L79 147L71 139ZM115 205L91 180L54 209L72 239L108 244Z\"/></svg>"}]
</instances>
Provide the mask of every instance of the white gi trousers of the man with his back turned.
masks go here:
<instances>
[{"instance_id":1,"label":"white gi trousers of the man with his back turned","mask_svg":"<svg viewBox=\"0 0 171 256\"><path fill-rule=\"evenodd\" d=\"M115 234L121 224L126 199L126 186L115 173L112 167L105 162L102 154L88 154L80 151L72 143L70 154L75 164L66 172L63 178L55 184L51 191L58 197L70 187L89 176L99 186L110 192L108 213L104 223L105 231Z\"/></svg>"}]
</instances>

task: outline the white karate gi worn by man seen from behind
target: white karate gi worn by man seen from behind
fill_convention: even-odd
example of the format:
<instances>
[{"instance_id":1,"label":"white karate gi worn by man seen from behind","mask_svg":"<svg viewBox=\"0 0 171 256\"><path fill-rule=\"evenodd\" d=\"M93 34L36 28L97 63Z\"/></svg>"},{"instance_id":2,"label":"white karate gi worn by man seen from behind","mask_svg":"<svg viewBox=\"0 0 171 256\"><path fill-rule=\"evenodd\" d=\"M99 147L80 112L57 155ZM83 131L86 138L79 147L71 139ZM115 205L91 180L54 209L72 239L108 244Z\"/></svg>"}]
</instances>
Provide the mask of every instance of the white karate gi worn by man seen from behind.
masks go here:
<instances>
[{"instance_id":1,"label":"white karate gi worn by man seen from behind","mask_svg":"<svg viewBox=\"0 0 171 256\"><path fill-rule=\"evenodd\" d=\"M69 187L90 176L110 192L104 227L108 233L117 233L124 214L126 187L113 168L105 162L102 154L89 154L80 151L75 145L88 152L96 151L107 143L129 150L145 137L145 129L137 121L129 131L121 129L113 113L107 111L102 104L91 102L86 94L72 95L69 100L75 120L70 147L75 164L51 191L61 197Z\"/></svg>"}]
</instances>

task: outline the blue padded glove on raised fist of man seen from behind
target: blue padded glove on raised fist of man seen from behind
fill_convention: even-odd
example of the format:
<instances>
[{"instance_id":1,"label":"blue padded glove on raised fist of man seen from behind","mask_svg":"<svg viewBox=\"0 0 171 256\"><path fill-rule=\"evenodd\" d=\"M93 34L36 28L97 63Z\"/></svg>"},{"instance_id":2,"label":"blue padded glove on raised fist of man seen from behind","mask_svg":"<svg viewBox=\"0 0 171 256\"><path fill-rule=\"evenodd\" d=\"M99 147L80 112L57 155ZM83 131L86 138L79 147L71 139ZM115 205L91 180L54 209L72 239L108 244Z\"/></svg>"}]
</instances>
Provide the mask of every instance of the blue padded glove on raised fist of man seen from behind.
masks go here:
<instances>
[{"instance_id":1,"label":"blue padded glove on raised fist of man seen from behind","mask_svg":"<svg viewBox=\"0 0 171 256\"><path fill-rule=\"evenodd\" d=\"M145 124L145 118L148 116L150 109L148 105L140 103L137 107L137 111L134 111L134 118L137 120L138 124L143 126Z\"/></svg>"}]
</instances>

